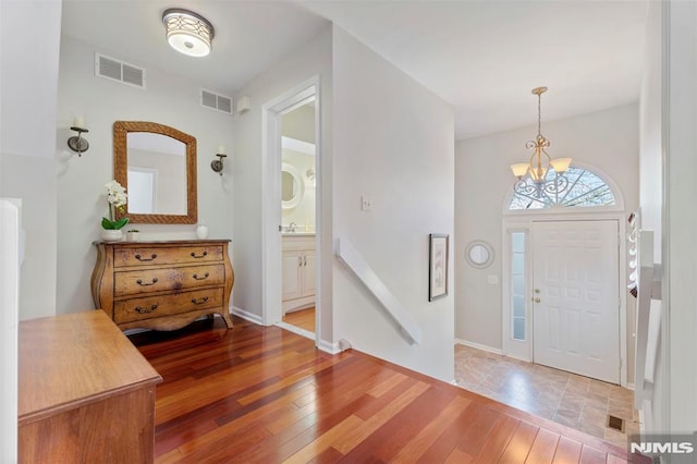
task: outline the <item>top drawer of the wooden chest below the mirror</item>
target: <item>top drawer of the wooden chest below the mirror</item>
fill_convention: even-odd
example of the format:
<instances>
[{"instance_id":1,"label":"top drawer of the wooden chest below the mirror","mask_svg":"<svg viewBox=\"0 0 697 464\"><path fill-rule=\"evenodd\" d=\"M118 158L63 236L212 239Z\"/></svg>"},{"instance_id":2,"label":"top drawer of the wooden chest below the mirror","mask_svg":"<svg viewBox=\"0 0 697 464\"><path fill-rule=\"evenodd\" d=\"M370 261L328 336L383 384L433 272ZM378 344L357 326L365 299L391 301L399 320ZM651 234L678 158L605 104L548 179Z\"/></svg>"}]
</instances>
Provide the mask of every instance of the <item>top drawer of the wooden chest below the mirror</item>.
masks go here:
<instances>
[{"instance_id":1,"label":"top drawer of the wooden chest below the mirror","mask_svg":"<svg viewBox=\"0 0 697 464\"><path fill-rule=\"evenodd\" d=\"M114 267L143 265L179 265L223 260L221 245L189 245L180 247L122 247L113 251Z\"/></svg>"}]
</instances>

